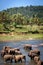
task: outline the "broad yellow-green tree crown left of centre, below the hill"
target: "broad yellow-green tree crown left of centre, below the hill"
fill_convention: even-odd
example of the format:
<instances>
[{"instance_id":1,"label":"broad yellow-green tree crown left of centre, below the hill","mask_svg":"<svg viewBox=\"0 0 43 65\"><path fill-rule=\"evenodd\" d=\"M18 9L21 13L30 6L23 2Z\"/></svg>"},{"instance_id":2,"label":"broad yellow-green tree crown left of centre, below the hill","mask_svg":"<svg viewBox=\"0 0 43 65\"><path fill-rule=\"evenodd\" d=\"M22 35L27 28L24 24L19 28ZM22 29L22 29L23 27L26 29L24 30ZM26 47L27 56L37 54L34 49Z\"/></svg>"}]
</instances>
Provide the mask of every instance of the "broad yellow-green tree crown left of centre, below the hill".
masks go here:
<instances>
[{"instance_id":1,"label":"broad yellow-green tree crown left of centre, below the hill","mask_svg":"<svg viewBox=\"0 0 43 65\"><path fill-rule=\"evenodd\" d=\"M14 23L15 25L25 24L26 23L25 19L26 19L25 16L23 16L20 13L11 16L12 23Z\"/></svg>"}]
</instances>

